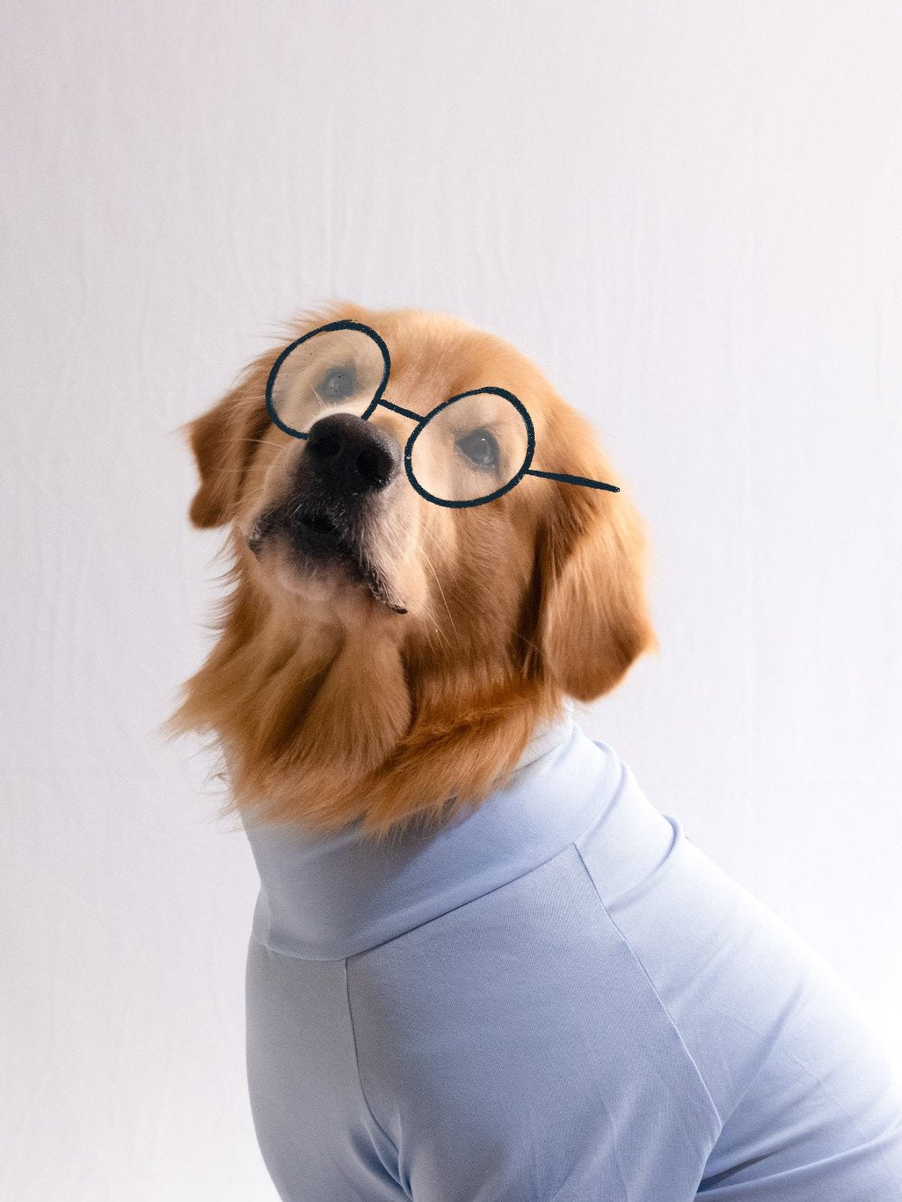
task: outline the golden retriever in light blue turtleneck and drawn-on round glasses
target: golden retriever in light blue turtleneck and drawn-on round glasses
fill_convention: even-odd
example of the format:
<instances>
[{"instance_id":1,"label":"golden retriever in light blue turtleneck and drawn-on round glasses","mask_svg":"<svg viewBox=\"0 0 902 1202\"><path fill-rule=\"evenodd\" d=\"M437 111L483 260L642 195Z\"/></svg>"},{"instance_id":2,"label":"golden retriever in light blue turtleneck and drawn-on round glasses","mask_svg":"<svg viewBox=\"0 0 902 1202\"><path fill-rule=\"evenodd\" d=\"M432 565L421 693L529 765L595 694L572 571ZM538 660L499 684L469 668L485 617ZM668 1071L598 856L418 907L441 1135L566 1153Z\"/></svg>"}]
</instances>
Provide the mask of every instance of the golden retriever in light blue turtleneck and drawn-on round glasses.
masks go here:
<instances>
[{"instance_id":1,"label":"golden retriever in light blue turtleneck and drawn-on round glasses","mask_svg":"<svg viewBox=\"0 0 902 1202\"><path fill-rule=\"evenodd\" d=\"M588 419L493 334L342 302L180 430L232 590L165 733L213 736L260 871L279 1195L902 1198L864 1006L574 720L659 649Z\"/></svg>"}]
</instances>

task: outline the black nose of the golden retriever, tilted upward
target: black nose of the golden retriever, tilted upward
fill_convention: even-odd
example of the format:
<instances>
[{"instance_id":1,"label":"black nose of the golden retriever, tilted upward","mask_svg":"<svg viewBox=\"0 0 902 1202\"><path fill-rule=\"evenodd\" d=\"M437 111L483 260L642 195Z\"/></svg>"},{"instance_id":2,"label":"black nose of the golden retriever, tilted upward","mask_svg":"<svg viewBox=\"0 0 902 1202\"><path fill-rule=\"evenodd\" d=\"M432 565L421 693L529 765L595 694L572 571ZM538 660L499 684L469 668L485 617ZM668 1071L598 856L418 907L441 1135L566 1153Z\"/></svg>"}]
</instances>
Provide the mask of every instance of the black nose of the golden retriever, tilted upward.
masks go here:
<instances>
[{"instance_id":1,"label":"black nose of the golden retriever, tilted upward","mask_svg":"<svg viewBox=\"0 0 902 1202\"><path fill-rule=\"evenodd\" d=\"M332 413L314 422L305 454L326 483L350 493L385 488L400 466L394 439L354 413Z\"/></svg>"}]
</instances>

